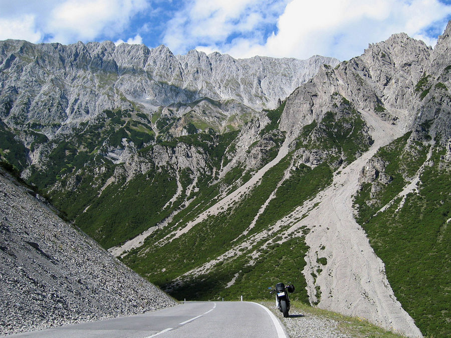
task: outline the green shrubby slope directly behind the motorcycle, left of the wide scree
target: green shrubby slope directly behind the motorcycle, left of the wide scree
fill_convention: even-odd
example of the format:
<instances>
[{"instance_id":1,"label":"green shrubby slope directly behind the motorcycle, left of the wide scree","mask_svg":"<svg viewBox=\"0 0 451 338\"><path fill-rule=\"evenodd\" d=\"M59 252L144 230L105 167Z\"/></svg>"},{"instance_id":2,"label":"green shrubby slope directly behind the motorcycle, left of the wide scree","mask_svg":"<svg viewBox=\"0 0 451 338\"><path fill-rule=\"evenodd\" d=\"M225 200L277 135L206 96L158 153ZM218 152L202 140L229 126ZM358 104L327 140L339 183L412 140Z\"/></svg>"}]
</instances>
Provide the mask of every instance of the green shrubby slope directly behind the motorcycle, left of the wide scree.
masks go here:
<instances>
[{"instance_id":1,"label":"green shrubby slope directly behind the motorcycle, left of the wide scree","mask_svg":"<svg viewBox=\"0 0 451 338\"><path fill-rule=\"evenodd\" d=\"M180 285L167 291L177 299L190 297L190 300L237 300L241 295L245 299L272 299L273 295L268 292L268 287L274 286L283 275L296 286L292 298L308 301L305 289L307 284L302 275L307 250L304 237L295 237L282 244L270 245L262 251L253 265L249 265L249 257L245 252L217 265L208 274L185 278ZM252 250L247 252L250 251ZM226 288L226 284L233 278L235 283ZM169 284L160 286L166 289Z\"/></svg>"}]
</instances>

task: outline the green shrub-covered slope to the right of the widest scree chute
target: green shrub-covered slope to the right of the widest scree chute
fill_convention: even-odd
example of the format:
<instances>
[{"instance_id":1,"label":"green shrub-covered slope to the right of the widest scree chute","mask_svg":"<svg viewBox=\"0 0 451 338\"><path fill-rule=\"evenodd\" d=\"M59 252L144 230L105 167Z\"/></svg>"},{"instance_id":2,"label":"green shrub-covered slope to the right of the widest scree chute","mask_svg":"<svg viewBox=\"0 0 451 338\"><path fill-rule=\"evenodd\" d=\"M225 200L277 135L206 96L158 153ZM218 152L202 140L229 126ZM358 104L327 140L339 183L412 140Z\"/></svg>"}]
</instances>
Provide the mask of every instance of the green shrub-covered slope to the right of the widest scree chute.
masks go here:
<instances>
[{"instance_id":1,"label":"green shrub-covered slope to the right of the widest scree chute","mask_svg":"<svg viewBox=\"0 0 451 338\"><path fill-rule=\"evenodd\" d=\"M379 153L385 152L383 158L390 161L387 171L395 178L390 185L402 176L405 166L417 170L425 160L425 155L421 153L419 161L412 159L405 163L405 141L404 136ZM433 165L424 167L418 192L408 194L402 206L402 199L397 198L391 207L374 215L381 205L402 189L405 182L397 184L391 192L388 191L392 188L386 187L381 192L382 197L378 197L383 202L376 204L366 216L359 209L358 218L371 246L385 263L387 278L396 298L426 336L451 334L448 309L451 296L446 286L449 285L448 272L451 268L451 230L448 226L451 218L451 178L449 165L440 160L443 153L434 152L431 158ZM412 155L410 153L412 158L415 157ZM395 165L395 162L404 165ZM359 201L360 207L362 203Z\"/></svg>"}]
</instances>

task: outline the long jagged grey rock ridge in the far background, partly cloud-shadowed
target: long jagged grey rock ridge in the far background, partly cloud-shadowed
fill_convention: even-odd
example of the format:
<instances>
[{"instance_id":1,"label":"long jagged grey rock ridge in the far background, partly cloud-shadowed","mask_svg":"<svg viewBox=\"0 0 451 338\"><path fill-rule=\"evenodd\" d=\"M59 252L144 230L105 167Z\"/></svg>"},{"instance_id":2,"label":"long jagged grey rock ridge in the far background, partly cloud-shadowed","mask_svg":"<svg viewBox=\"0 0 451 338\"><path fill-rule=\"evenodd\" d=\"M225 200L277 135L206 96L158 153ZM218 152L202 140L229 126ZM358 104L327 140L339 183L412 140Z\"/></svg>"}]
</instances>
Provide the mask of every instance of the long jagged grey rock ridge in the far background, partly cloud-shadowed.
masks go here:
<instances>
[{"instance_id":1,"label":"long jagged grey rock ridge in the far background, partly cloud-shadowed","mask_svg":"<svg viewBox=\"0 0 451 338\"><path fill-rule=\"evenodd\" d=\"M108 41L63 46L7 40L0 42L0 118L17 126L56 125L89 120L104 109L139 106L152 115L173 104L178 116L201 115L204 98L228 107L208 110L240 116L275 108L322 64L337 63L320 56L237 60L195 50L175 56L165 46Z\"/></svg>"}]
</instances>

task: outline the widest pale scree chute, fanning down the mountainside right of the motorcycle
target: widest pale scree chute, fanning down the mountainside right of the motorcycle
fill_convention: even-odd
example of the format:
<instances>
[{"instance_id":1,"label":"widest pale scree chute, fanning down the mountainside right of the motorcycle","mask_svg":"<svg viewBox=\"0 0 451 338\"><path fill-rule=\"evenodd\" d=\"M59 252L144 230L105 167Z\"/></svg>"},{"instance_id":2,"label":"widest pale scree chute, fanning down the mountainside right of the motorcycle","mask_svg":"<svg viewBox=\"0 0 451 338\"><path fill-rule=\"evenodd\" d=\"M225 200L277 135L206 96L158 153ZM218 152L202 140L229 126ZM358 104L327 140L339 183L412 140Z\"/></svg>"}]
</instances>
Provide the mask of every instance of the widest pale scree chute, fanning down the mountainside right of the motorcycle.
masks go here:
<instances>
[{"instance_id":1,"label":"widest pale scree chute, fanning down the mountainside right of the motorcycle","mask_svg":"<svg viewBox=\"0 0 451 338\"><path fill-rule=\"evenodd\" d=\"M310 249L303 270L311 302L319 301L321 308L368 318L388 330L420 337L420 330L393 294L384 263L353 216L352 199L359 187L360 170L380 147L400 136L394 126L381 121L374 113L362 112L362 117L372 130L374 144L342 168L333 184L310 201L316 205L313 210L300 207L293 213L305 217L288 231L302 226L311 229L306 236ZM327 258L326 265L319 266L320 257ZM318 267L322 272L314 279L311 273ZM317 288L321 291L320 299Z\"/></svg>"}]
</instances>

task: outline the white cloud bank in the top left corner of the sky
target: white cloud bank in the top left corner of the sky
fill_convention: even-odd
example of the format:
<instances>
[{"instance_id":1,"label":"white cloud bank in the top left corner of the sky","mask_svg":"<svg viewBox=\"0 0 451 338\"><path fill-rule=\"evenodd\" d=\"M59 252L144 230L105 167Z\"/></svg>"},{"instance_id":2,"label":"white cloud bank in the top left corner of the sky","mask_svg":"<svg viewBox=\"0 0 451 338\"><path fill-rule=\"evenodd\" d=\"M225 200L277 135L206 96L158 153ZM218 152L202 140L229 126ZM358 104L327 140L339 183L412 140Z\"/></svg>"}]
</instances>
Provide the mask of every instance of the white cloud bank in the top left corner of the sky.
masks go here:
<instances>
[{"instance_id":1,"label":"white cloud bank in the top left corner of the sky","mask_svg":"<svg viewBox=\"0 0 451 338\"><path fill-rule=\"evenodd\" d=\"M0 2L0 36L63 44L113 38L128 27L135 14L148 6L147 0ZM12 28L7 29L8 25Z\"/></svg>"}]
</instances>

